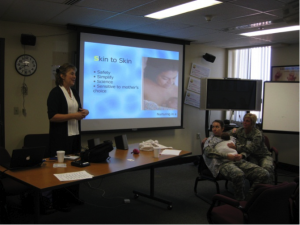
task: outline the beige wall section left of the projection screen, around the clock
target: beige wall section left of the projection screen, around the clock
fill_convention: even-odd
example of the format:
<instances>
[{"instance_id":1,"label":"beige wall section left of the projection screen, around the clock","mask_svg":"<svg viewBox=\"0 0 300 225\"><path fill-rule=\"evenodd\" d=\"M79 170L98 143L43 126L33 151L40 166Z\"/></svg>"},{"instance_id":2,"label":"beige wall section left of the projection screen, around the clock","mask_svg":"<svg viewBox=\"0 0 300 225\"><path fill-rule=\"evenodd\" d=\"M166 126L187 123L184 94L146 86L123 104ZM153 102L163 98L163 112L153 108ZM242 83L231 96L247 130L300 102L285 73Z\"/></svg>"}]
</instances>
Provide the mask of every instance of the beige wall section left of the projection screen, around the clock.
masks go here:
<instances>
[{"instance_id":1,"label":"beige wall section left of the projection screen, around the clock","mask_svg":"<svg viewBox=\"0 0 300 225\"><path fill-rule=\"evenodd\" d=\"M53 86L51 65L69 61L75 50L75 34L65 28L0 22L0 35L5 38L5 147L8 151L20 148L23 138L29 133L48 131L46 99ZM37 37L35 46L20 42L21 34ZM37 71L32 76L19 75L15 60L22 54L32 55L37 60ZM21 87L25 81L28 95L23 99ZM27 112L23 116L23 103ZM14 107L20 110L14 115Z\"/></svg>"}]
</instances>

